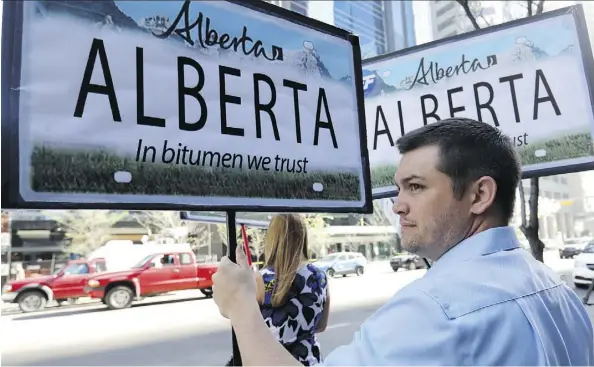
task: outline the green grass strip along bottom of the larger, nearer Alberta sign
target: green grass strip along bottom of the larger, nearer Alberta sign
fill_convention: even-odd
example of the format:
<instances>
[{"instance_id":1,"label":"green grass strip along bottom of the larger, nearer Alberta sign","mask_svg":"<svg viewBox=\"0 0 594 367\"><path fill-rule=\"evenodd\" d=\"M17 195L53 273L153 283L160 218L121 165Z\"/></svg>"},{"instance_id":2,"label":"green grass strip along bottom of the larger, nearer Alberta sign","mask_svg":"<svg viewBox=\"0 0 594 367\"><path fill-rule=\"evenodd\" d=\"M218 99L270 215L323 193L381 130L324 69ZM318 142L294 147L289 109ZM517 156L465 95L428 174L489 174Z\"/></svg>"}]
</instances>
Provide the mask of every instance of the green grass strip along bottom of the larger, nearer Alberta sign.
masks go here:
<instances>
[{"instance_id":1,"label":"green grass strip along bottom of the larger, nearer Alberta sign","mask_svg":"<svg viewBox=\"0 0 594 367\"><path fill-rule=\"evenodd\" d=\"M271 199L348 200L361 198L359 175L307 174L141 163L106 151L73 151L43 146L31 156L31 186L38 192L223 196ZM118 183L114 173L132 174ZM324 185L322 192L312 189Z\"/></svg>"}]
</instances>

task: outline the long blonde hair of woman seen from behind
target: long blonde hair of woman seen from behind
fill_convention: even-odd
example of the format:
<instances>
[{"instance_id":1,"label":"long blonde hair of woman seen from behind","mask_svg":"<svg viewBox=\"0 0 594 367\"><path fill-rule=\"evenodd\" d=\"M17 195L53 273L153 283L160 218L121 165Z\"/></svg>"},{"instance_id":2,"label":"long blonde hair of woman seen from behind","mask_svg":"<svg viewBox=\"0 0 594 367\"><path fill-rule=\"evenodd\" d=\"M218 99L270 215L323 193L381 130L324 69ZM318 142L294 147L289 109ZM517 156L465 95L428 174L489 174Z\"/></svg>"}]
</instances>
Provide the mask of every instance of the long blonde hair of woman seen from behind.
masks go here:
<instances>
[{"instance_id":1,"label":"long blonde hair of woman seen from behind","mask_svg":"<svg viewBox=\"0 0 594 367\"><path fill-rule=\"evenodd\" d=\"M274 269L272 306L286 302L301 264L307 260L307 226L299 214L276 215L268 225L265 266Z\"/></svg>"}]
</instances>

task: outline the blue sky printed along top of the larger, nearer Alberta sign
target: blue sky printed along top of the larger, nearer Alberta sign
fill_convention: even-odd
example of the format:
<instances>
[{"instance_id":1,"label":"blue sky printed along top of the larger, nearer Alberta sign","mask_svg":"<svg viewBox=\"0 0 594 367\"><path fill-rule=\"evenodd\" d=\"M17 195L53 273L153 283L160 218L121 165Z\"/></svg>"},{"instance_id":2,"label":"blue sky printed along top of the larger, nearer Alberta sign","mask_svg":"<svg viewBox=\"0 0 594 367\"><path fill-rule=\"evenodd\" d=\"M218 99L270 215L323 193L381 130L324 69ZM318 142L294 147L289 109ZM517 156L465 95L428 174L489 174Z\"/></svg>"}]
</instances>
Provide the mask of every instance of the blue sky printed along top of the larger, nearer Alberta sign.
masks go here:
<instances>
[{"instance_id":1,"label":"blue sky printed along top of the larger, nearer Alberta sign","mask_svg":"<svg viewBox=\"0 0 594 367\"><path fill-rule=\"evenodd\" d=\"M182 1L116 1L118 7L128 16L138 21L141 18L161 15L168 16L170 21L181 9ZM141 5L141 6L139 6ZM253 39L259 39L270 50L270 45L277 45L284 49L301 50L304 41L314 44L316 51L324 61L324 65L330 74L335 78L342 78L352 74L352 59L350 47L346 43L337 43L328 40L328 37L320 37L315 31L305 31L300 34L295 28L282 27L277 22L270 21L270 17L255 17L248 14L259 14L257 12L235 12L230 4L217 2L195 2L191 5L191 20L195 20L199 11L211 19L211 27L218 31L224 31L231 35L241 35L243 26L248 28L248 35ZM240 10L243 10L240 8ZM195 15L194 15L195 14ZM304 28L305 29L305 28Z\"/></svg>"}]
</instances>

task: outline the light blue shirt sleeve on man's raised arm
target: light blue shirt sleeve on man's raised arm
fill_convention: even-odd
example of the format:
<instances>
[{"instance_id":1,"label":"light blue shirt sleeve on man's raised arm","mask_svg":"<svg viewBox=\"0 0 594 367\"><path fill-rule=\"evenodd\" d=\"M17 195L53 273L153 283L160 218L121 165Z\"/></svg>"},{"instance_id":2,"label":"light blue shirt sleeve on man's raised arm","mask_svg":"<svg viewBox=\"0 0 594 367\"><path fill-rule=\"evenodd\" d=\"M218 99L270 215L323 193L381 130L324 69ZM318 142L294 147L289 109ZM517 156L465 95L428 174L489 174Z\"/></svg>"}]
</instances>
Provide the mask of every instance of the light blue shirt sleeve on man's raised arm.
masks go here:
<instances>
[{"instance_id":1,"label":"light blue shirt sleeve on man's raised arm","mask_svg":"<svg viewBox=\"0 0 594 367\"><path fill-rule=\"evenodd\" d=\"M353 341L336 348L327 366L463 364L460 338L438 302L404 288L363 323Z\"/></svg>"}]
</instances>

